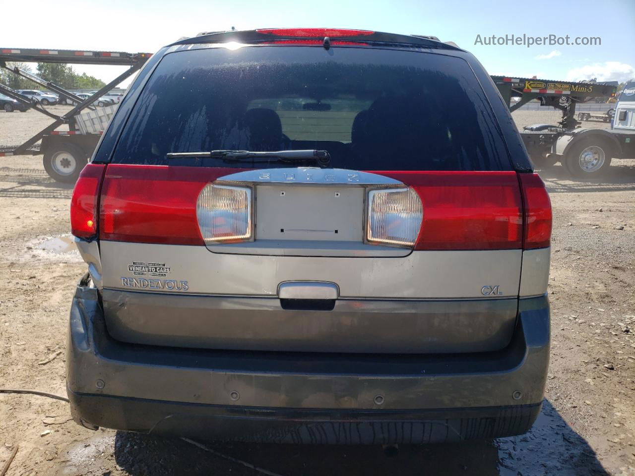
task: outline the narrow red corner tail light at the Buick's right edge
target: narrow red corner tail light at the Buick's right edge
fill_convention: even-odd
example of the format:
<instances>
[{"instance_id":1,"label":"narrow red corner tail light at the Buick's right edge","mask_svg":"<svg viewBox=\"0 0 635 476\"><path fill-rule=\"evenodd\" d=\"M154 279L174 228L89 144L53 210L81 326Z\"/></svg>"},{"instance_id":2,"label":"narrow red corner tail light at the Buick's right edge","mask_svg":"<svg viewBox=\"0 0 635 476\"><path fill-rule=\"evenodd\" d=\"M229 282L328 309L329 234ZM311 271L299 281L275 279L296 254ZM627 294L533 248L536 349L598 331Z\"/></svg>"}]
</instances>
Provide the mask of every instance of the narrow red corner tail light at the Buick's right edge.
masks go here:
<instances>
[{"instance_id":1,"label":"narrow red corner tail light at the Buick's right edge","mask_svg":"<svg viewBox=\"0 0 635 476\"><path fill-rule=\"evenodd\" d=\"M551 200L537 173L520 173L525 205L523 248L546 248L551 242Z\"/></svg>"}]
</instances>

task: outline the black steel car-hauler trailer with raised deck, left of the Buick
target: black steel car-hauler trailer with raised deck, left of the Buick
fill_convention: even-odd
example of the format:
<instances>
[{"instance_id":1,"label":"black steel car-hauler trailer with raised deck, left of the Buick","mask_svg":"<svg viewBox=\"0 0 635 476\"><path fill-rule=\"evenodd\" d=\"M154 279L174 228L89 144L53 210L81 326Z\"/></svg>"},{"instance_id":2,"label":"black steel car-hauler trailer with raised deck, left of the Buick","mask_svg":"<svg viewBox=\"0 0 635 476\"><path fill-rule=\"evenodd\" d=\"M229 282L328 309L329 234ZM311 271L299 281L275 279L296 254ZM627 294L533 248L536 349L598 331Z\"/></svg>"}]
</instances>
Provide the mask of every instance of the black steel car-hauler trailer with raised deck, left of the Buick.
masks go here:
<instances>
[{"instance_id":1,"label":"black steel car-hauler trailer with raised deck, left of the Buick","mask_svg":"<svg viewBox=\"0 0 635 476\"><path fill-rule=\"evenodd\" d=\"M21 145L0 148L0 157L13 155L43 155L44 169L58 182L73 183L79 172L93 153L102 131L83 133L76 124L76 116L84 109L95 110L93 102L102 95L135 74L152 56L150 53L126 53L124 51L86 51L86 50L40 50L25 48L0 48L0 67L23 77L32 83L57 93L76 104L63 116L53 114L29 96L0 84L0 93L9 96L31 109L51 117L53 122ZM91 65L125 65L128 70L110 81L85 100L50 81L44 81L18 67L9 67L8 62L72 63ZM56 130L63 124L68 130ZM37 143L41 142L39 147Z\"/></svg>"}]
</instances>

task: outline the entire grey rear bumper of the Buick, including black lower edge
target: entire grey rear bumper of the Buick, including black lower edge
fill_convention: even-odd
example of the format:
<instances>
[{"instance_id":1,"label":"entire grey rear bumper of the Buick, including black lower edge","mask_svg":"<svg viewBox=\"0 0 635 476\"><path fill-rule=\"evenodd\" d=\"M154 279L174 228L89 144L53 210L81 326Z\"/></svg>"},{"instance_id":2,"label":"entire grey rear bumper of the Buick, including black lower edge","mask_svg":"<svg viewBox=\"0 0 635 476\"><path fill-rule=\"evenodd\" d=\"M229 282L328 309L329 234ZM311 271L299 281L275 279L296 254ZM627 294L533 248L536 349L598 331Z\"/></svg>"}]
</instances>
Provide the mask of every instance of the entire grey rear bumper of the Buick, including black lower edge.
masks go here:
<instances>
[{"instance_id":1,"label":"entire grey rear bumper of the Buick, including black lower edge","mask_svg":"<svg viewBox=\"0 0 635 476\"><path fill-rule=\"evenodd\" d=\"M81 283L67 385L72 414L86 425L235 440L438 442L528 430L548 360L545 296L520 301L512 341L497 352L239 352L116 341L97 290Z\"/></svg>"}]
</instances>

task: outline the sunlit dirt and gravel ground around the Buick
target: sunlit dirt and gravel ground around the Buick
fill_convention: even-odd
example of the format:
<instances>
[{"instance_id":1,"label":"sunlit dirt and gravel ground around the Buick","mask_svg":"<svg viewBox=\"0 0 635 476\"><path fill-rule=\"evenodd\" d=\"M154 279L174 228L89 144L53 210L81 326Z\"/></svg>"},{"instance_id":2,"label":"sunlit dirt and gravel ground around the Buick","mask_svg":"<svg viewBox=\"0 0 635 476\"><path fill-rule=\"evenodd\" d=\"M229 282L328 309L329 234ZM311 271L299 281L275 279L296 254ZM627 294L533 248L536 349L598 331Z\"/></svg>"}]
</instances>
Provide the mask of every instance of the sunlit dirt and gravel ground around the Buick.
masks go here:
<instances>
[{"instance_id":1,"label":"sunlit dirt and gravel ground around the Buick","mask_svg":"<svg viewBox=\"0 0 635 476\"><path fill-rule=\"evenodd\" d=\"M0 144L48 124L26 121L36 114L0 112ZM514 117L519 126L558 120ZM22 123L19 134L11 121ZM72 190L48 178L41 157L0 161L0 388L64 395L70 301L86 266L63 239L50 240L69 234ZM559 166L541 175L554 208L552 352L543 411L526 435L396 456L375 446L201 447L92 432L70 420L65 402L0 393L0 468L18 446L7 476L635 475L635 161L615 161L593 183Z\"/></svg>"}]
</instances>

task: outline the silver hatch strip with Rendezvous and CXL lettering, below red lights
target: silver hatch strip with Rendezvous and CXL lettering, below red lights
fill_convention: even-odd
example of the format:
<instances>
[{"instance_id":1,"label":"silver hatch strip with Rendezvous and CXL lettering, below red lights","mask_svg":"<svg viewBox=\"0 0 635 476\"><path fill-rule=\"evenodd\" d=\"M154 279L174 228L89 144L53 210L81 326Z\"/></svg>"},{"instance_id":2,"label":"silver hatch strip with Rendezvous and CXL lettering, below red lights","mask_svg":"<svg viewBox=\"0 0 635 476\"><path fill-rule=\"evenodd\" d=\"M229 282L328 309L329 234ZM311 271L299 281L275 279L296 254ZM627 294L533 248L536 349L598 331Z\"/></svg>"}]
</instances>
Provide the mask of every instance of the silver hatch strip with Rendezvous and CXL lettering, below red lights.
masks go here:
<instances>
[{"instance_id":1,"label":"silver hatch strip with Rendezvous and CXL lettering, below red lights","mask_svg":"<svg viewBox=\"0 0 635 476\"><path fill-rule=\"evenodd\" d=\"M116 241L101 241L100 248L104 288L277 296L278 285L284 281L328 281L337 284L340 297L359 299L515 297L523 258L519 249L337 258L229 255L204 246ZM153 268L153 264L163 266ZM153 272L159 268L164 269ZM490 288L484 291L485 286Z\"/></svg>"}]
</instances>

